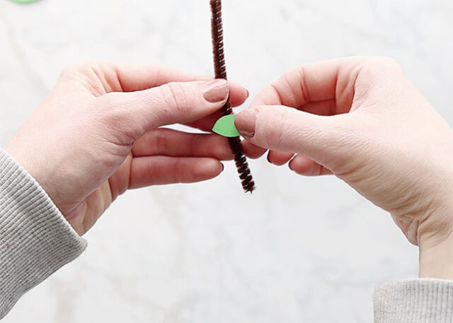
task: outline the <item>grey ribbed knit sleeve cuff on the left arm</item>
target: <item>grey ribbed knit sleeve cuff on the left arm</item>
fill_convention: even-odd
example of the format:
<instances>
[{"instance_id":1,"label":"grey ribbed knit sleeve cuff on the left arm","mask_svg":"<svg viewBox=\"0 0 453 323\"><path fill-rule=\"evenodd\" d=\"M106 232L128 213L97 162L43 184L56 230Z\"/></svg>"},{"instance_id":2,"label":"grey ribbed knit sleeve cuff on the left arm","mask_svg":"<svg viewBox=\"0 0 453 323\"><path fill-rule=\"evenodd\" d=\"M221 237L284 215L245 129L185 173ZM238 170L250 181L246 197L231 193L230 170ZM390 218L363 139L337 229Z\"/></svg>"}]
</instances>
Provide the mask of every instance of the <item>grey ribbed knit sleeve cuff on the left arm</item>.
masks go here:
<instances>
[{"instance_id":1,"label":"grey ribbed knit sleeve cuff on the left arm","mask_svg":"<svg viewBox=\"0 0 453 323\"><path fill-rule=\"evenodd\" d=\"M85 247L38 182L0 148L0 319Z\"/></svg>"}]
</instances>

